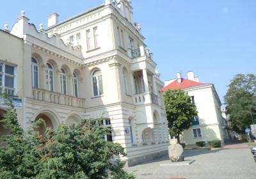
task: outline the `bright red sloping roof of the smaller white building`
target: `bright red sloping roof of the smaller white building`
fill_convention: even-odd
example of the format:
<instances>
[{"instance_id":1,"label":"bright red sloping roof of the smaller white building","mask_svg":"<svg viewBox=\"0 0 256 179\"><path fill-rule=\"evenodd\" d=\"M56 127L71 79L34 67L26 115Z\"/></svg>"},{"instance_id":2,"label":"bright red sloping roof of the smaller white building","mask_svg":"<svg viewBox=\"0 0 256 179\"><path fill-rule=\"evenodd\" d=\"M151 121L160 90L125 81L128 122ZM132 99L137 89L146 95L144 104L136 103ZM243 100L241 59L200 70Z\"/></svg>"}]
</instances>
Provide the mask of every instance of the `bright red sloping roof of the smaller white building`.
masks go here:
<instances>
[{"instance_id":1,"label":"bright red sloping roof of the smaller white building","mask_svg":"<svg viewBox=\"0 0 256 179\"><path fill-rule=\"evenodd\" d=\"M202 86L208 83L202 83L197 81L191 81L189 79L182 79L182 82L178 82L178 79L175 79L175 81L171 82L167 86L163 88L163 92L165 92L167 89L174 90L174 89L186 89L186 88L193 88L196 86Z\"/></svg>"}]
</instances>

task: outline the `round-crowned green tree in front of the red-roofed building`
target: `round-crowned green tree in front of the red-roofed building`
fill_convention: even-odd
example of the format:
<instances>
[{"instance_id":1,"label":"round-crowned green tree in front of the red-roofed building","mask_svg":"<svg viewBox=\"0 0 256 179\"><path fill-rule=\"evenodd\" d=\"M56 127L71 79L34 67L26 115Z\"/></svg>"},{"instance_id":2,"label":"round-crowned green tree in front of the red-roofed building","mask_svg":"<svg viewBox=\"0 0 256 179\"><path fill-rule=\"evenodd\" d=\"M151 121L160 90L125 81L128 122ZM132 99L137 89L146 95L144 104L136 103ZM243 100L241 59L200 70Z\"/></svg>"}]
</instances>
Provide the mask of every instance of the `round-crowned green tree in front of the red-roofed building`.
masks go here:
<instances>
[{"instance_id":1,"label":"round-crowned green tree in front of the red-roofed building","mask_svg":"<svg viewBox=\"0 0 256 179\"><path fill-rule=\"evenodd\" d=\"M191 102L191 97L183 90L166 91L164 105L170 136L176 136L180 143L180 134L191 127L197 115L196 105Z\"/></svg>"}]
</instances>

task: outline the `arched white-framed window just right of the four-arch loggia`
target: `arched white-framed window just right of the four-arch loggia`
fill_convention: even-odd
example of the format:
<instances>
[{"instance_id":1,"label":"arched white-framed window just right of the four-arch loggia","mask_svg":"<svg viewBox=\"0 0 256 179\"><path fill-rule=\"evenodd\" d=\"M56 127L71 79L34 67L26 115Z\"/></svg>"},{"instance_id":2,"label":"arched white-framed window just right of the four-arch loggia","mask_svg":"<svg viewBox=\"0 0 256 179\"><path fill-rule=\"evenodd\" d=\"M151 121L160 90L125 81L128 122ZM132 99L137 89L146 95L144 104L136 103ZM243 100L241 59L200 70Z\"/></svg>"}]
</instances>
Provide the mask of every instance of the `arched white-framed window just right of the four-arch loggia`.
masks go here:
<instances>
[{"instance_id":1,"label":"arched white-framed window just right of the four-arch loggia","mask_svg":"<svg viewBox=\"0 0 256 179\"><path fill-rule=\"evenodd\" d=\"M93 97L103 94L102 75L100 70L95 70L92 74Z\"/></svg>"}]
</instances>

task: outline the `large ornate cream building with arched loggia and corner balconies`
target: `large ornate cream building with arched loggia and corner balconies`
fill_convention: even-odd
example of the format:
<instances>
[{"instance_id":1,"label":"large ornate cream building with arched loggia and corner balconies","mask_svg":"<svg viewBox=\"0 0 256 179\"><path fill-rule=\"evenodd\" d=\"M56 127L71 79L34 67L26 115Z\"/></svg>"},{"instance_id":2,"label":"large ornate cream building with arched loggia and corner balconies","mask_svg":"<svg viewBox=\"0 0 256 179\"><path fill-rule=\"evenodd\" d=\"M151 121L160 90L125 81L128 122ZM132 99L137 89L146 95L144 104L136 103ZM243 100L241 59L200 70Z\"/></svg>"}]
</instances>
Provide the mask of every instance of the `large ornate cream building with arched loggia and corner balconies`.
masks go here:
<instances>
[{"instance_id":1,"label":"large ornate cream building with arched loggia and corner balconies","mask_svg":"<svg viewBox=\"0 0 256 179\"><path fill-rule=\"evenodd\" d=\"M48 17L45 30L21 12L10 31L0 31L1 89L12 95L20 125L43 118L56 130L102 117L113 129L105 139L124 146L129 166L164 155L164 84L131 2L106 0L63 22L58 16Z\"/></svg>"}]
</instances>

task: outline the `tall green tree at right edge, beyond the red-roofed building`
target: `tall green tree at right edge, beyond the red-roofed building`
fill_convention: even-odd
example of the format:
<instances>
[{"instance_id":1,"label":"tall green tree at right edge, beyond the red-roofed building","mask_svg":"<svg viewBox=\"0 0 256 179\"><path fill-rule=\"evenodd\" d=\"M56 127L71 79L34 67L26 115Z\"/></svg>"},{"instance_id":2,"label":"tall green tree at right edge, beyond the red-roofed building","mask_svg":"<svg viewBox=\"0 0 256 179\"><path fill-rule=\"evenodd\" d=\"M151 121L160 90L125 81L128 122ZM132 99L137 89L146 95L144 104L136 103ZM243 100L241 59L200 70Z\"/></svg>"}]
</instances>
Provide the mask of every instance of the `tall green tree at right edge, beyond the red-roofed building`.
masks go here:
<instances>
[{"instance_id":1,"label":"tall green tree at right edge, beyond the red-roofed building","mask_svg":"<svg viewBox=\"0 0 256 179\"><path fill-rule=\"evenodd\" d=\"M246 127L255 123L256 117L256 75L237 74L228 85L225 95L228 124L232 130L244 133Z\"/></svg>"}]
</instances>

